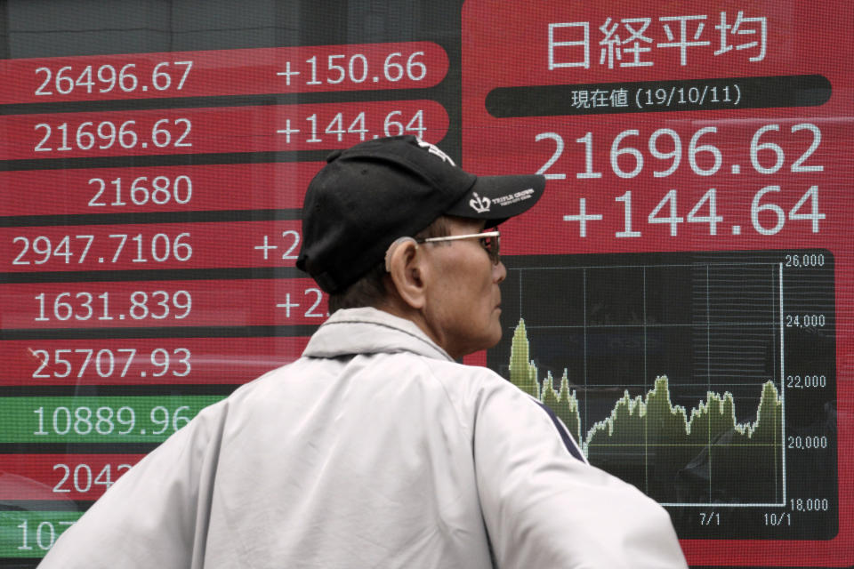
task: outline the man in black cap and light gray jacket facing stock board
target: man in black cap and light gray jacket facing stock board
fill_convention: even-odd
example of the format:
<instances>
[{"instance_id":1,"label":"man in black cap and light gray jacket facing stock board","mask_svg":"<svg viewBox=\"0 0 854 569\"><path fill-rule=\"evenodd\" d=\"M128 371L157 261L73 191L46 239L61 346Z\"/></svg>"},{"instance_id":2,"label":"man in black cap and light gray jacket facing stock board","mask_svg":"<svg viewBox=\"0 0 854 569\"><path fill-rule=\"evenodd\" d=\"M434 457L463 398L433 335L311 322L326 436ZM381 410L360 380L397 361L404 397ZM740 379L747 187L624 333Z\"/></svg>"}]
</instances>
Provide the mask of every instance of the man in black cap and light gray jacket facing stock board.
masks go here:
<instances>
[{"instance_id":1,"label":"man in black cap and light gray jacket facing stock board","mask_svg":"<svg viewBox=\"0 0 854 569\"><path fill-rule=\"evenodd\" d=\"M330 156L297 264L332 317L126 473L44 567L685 567L664 509L455 362L501 337L506 270L481 232L543 190L408 136Z\"/></svg>"}]
</instances>

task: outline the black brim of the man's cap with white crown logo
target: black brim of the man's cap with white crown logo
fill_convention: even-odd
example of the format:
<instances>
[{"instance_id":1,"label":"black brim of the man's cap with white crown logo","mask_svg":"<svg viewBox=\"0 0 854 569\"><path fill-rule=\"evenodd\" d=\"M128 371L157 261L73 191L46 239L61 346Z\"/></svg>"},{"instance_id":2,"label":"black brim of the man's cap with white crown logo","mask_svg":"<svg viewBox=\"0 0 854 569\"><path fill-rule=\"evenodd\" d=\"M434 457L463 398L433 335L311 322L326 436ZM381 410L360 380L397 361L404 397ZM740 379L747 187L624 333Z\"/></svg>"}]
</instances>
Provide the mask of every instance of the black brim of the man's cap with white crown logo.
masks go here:
<instances>
[{"instance_id":1,"label":"black brim of the man's cap with white crown logo","mask_svg":"<svg viewBox=\"0 0 854 569\"><path fill-rule=\"evenodd\" d=\"M527 212L545 189L545 176L478 176L462 199L446 212L448 215L501 221Z\"/></svg>"}]
</instances>

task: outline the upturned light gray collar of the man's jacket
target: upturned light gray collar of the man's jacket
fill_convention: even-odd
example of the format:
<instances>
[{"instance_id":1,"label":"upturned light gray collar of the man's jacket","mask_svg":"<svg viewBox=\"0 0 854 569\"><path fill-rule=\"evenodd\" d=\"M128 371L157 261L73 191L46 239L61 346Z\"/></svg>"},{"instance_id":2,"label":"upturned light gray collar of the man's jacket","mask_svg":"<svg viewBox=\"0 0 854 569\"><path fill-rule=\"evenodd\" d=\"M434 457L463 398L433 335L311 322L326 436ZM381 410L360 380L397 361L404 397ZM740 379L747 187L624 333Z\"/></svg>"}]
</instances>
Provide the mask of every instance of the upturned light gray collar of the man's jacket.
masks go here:
<instances>
[{"instance_id":1,"label":"upturned light gray collar of the man's jacket","mask_svg":"<svg viewBox=\"0 0 854 569\"><path fill-rule=\"evenodd\" d=\"M318 328L303 357L412 352L454 361L414 322L372 308L336 310Z\"/></svg>"}]
</instances>

